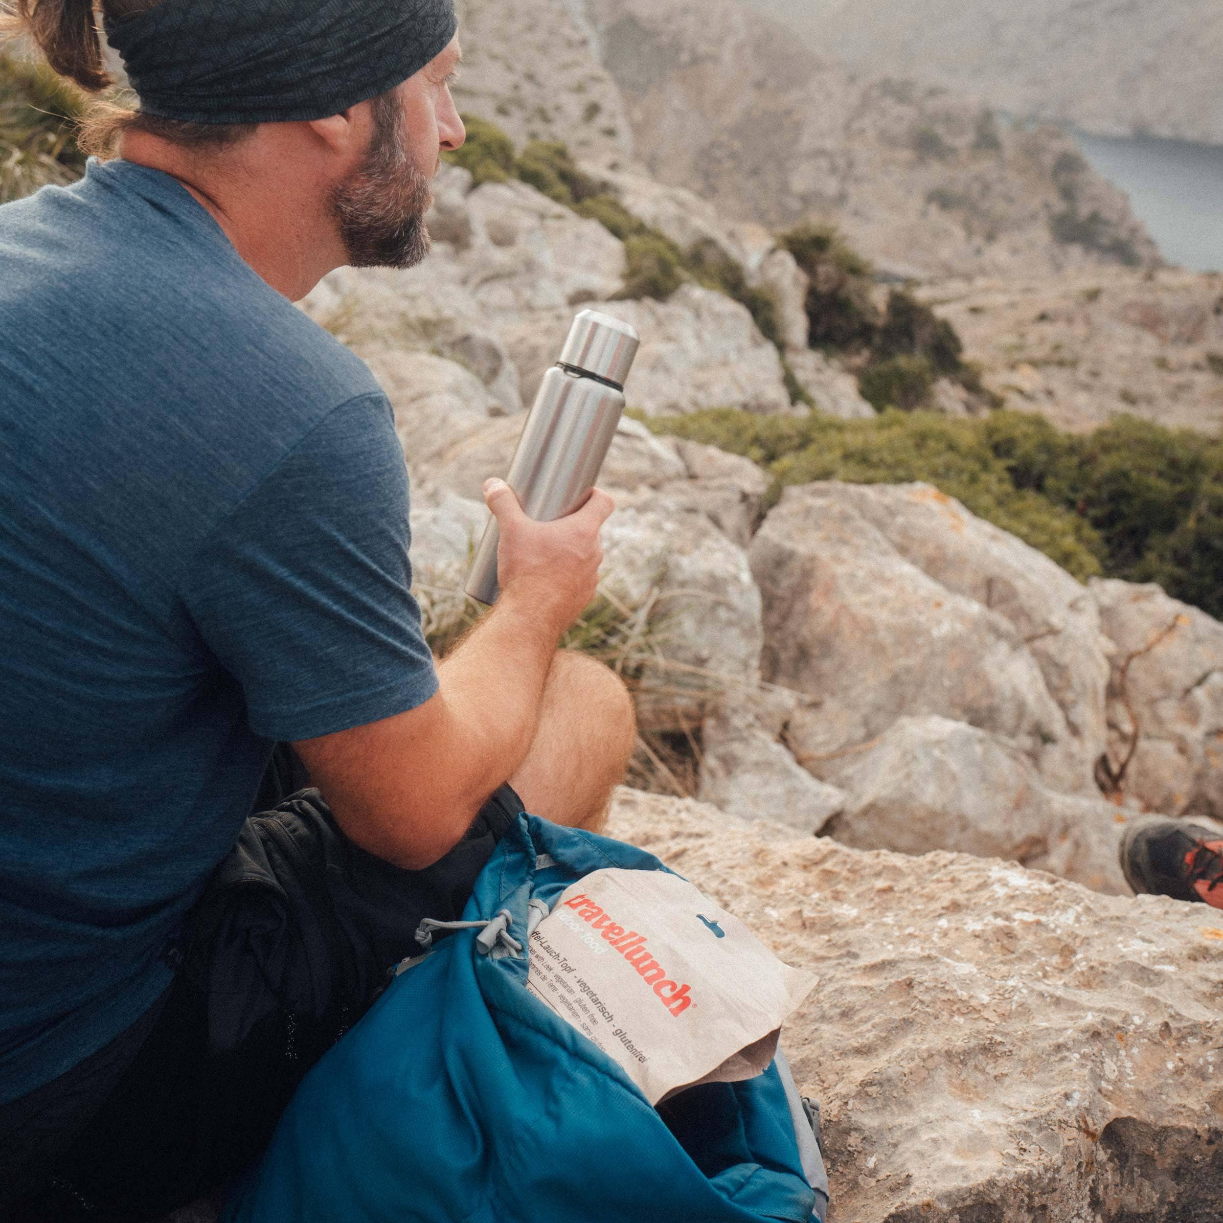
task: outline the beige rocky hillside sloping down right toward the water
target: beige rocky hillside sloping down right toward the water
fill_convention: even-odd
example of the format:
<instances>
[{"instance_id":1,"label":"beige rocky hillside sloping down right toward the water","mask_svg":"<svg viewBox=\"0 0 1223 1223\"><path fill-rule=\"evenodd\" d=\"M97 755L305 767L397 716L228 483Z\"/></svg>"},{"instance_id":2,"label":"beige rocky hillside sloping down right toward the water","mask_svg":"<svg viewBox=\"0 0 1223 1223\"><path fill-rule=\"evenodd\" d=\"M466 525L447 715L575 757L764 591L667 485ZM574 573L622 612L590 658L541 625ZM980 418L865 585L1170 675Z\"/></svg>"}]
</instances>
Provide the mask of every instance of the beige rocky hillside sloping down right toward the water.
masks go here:
<instances>
[{"instance_id":1,"label":"beige rocky hillside sloping down right toward the water","mask_svg":"<svg viewBox=\"0 0 1223 1223\"><path fill-rule=\"evenodd\" d=\"M730 219L835 223L900 276L1157 259L1120 192L1076 163L1065 181L1074 146L1055 130L1011 131L967 95L815 55L745 0L467 0L466 13L473 66L498 67L464 106L604 164L632 154Z\"/></svg>"}]
</instances>

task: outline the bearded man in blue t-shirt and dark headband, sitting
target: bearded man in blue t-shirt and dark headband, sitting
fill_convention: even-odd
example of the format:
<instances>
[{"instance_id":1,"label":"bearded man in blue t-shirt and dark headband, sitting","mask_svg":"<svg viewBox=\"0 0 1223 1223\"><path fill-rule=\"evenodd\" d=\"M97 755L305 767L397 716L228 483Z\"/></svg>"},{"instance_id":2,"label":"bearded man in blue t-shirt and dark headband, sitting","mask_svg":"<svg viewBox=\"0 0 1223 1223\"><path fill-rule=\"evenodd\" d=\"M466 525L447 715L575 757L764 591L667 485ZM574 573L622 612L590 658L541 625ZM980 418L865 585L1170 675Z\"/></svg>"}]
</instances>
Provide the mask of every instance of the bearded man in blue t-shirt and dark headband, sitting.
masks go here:
<instances>
[{"instance_id":1,"label":"bearded man in blue t-shirt and dark headband, sitting","mask_svg":"<svg viewBox=\"0 0 1223 1223\"><path fill-rule=\"evenodd\" d=\"M106 83L91 0L16 7ZM285 893L341 931L342 1027L415 950L383 917L460 916L523 805L597 823L634 725L612 673L556 653L608 498L539 525L492 481L501 599L434 669L390 406L291 306L423 258L464 141L451 0L100 13L141 99L103 121L117 159L0 209L0 1214L135 1223L254 1158L338 1035L276 976L331 942L273 954L218 881L247 895L296 838ZM265 775L276 742L325 806L247 823L303 780L283 750Z\"/></svg>"}]
</instances>

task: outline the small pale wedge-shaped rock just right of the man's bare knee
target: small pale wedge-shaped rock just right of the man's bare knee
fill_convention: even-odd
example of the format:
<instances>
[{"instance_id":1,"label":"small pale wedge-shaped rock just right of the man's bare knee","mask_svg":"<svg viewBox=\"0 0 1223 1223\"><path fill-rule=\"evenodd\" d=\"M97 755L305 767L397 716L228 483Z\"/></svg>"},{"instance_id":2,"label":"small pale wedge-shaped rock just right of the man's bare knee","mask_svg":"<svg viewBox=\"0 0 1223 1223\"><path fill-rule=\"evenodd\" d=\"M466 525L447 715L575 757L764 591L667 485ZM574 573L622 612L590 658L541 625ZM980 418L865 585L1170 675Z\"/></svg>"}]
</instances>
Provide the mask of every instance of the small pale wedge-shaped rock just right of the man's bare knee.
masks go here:
<instances>
[{"instance_id":1,"label":"small pale wedge-shaped rock just right of the man's bare knee","mask_svg":"<svg viewBox=\"0 0 1223 1223\"><path fill-rule=\"evenodd\" d=\"M777 737L744 709L734 693L704 720L701 739L702 802L742 819L764 819L807 835L845 810L841 790L801 768Z\"/></svg>"}]
</instances>

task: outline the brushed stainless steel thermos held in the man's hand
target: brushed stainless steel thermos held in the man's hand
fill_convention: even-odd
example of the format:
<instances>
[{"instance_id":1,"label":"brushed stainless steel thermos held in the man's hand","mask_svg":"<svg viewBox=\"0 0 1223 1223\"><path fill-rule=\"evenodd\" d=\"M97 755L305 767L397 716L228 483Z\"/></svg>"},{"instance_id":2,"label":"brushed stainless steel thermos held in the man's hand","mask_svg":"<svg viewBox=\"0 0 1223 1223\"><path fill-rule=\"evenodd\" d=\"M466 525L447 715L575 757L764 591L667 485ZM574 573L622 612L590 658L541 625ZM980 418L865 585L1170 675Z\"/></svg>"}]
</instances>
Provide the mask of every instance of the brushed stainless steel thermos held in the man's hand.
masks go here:
<instances>
[{"instance_id":1,"label":"brushed stainless steel thermos held in the man's hand","mask_svg":"<svg viewBox=\"0 0 1223 1223\"><path fill-rule=\"evenodd\" d=\"M574 319L560 360L543 375L505 479L528 517L563 519L594 487L624 412L624 383L638 344L627 323L608 314L583 309ZM499 541L489 516L466 586L481 603L495 603L500 593Z\"/></svg>"}]
</instances>

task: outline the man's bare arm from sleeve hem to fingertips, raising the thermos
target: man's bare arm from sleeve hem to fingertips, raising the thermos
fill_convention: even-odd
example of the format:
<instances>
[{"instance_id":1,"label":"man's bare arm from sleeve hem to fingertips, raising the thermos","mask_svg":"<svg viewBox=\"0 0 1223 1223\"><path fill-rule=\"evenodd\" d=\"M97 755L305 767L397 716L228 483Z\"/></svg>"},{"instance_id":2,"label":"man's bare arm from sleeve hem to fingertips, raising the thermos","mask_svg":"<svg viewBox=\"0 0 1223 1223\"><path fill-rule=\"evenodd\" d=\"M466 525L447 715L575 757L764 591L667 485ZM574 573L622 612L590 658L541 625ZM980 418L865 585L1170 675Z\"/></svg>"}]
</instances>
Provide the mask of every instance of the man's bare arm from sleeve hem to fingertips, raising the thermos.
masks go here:
<instances>
[{"instance_id":1,"label":"man's bare arm from sleeve hem to fingertips, raising the thermos","mask_svg":"<svg viewBox=\"0 0 1223 1223\"><path fill-rule=\"evenodd\" d=\"M594 597L599 528L613 509L596 492L576 514L543 523L503 481L489 481L486 498L500 527L501 597L439 667L437 695L295 745L345 834L408 870L449 852L526 758L558 641Z\"/></svg>"}]
</instances>

